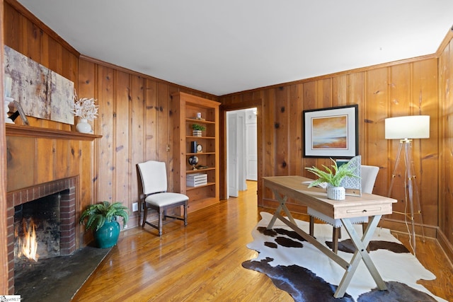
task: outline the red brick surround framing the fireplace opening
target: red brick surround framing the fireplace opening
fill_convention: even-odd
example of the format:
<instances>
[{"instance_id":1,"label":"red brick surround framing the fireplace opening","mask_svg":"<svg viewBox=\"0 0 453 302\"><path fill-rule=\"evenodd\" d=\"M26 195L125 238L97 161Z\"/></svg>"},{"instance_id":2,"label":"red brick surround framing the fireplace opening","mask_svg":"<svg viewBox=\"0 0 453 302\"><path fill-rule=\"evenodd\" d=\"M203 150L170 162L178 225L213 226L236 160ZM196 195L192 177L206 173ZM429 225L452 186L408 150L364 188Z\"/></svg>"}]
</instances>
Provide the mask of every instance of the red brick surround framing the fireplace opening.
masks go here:
<instances>
[{"instance_id":1,"label":"red brick surround framing the fireplace opening","mask_svg":"<svg viewBox=\"0 0 453 302\"><path fill-rule=\"evenodd\" d=\"M79 177L45 182L33 187L8 192L8 292L14 292L14 207L40 197L65 191L60 199L60 255L71 255L76 250L76 187Z\"/></svg>"}]
</instances>

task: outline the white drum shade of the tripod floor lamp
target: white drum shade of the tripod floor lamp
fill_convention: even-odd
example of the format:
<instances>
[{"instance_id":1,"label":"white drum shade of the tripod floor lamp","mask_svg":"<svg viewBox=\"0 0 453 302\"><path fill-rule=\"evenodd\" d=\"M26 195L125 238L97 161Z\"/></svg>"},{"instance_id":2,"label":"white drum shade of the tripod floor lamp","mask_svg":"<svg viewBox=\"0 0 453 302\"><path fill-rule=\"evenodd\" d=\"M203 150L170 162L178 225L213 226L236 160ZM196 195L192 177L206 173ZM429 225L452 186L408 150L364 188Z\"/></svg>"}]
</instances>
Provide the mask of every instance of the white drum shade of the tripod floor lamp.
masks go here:
<instances>
[{"instance_id":1,"label":"white drum shade of the tripod floor lamp","mask_svg":"<svg viewBox=\"0 0 453 302\"><path fill-rule=\"evenodd\" d=\"M430 116L410 115L385 119L386 139L429 139Z\"/></svg>"}]
</instances>

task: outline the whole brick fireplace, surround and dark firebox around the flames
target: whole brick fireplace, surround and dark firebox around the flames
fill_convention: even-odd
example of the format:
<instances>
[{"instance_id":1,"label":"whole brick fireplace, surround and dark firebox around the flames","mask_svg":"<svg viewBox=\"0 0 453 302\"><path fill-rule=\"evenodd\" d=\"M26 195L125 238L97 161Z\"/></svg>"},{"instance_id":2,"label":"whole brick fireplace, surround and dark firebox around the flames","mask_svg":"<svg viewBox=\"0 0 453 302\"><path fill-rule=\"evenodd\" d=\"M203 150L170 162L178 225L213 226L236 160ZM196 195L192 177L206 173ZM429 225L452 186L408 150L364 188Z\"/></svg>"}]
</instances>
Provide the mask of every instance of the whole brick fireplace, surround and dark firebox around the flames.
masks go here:
<instances>
[{"instance_id":1,"label":"whole brick fireplace, surround and dark firebox around the flames","mask_svg":"<svg viewBox=\"0 0 453 302\"><path fill-rule=\"evenodd\" d=\"M41 243L39 257L71 255L76 250L76 187L79 178L64 178L8 192L8 291L14 292L15 262L31 261L18 257L16 236L33 230ZM46 209L45 209L46 208ZM38 220L38 223L36 223ZM15 223L16 221L16 223ZM37 231L37 232L36 232ZM33 248L31 248L33 250ZM16 255L16 257L15 257ZM38 257L38 261L39 261Z\"/></svg>"}]
</instances>

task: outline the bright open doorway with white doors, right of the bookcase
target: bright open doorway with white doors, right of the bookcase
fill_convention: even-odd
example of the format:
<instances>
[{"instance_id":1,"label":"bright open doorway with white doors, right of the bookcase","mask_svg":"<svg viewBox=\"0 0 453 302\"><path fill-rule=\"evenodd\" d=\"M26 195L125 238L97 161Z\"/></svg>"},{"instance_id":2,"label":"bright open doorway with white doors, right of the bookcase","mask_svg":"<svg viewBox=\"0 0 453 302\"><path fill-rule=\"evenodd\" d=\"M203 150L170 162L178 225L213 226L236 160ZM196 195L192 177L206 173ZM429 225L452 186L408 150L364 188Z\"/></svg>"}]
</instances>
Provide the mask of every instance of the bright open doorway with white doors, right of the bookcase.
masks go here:
<instances>
[{"instance_id":1,"label":"bright open doorway with white doors, right of the bookcase","mask_svg":"<svg viewBox=\"0 0 453 302\"><path fill-rule=\"evenodd\" d=\"M257 108L226 112L226 197L258 180Z\"/></svg>"}]
</instances>

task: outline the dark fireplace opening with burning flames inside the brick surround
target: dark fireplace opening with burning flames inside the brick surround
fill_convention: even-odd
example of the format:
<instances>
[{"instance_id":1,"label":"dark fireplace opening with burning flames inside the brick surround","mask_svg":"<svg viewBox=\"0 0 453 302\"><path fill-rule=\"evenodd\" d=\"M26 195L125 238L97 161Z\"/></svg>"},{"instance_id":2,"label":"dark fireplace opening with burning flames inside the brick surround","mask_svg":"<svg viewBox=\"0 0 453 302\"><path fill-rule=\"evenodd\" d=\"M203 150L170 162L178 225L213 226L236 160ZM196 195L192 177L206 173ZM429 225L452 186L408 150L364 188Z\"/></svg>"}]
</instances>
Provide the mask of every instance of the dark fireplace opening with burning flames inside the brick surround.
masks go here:
<instances>
[{"instance_id":1,"label":"dark fireplace opening with burning flames inside the brick surround","mask_svg":"<svg viewBox=\"0 0 453 302\"><path fill-rule=\"evenodd\" d=\"M15 263L60 255L60 199L66 191L14 207Z\"/></svg>"}]
</instances>

